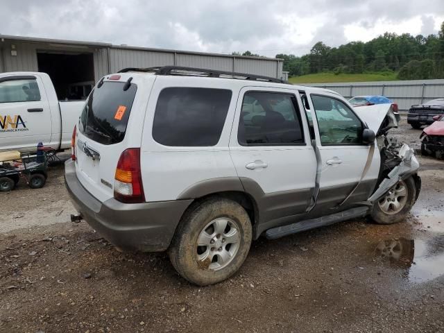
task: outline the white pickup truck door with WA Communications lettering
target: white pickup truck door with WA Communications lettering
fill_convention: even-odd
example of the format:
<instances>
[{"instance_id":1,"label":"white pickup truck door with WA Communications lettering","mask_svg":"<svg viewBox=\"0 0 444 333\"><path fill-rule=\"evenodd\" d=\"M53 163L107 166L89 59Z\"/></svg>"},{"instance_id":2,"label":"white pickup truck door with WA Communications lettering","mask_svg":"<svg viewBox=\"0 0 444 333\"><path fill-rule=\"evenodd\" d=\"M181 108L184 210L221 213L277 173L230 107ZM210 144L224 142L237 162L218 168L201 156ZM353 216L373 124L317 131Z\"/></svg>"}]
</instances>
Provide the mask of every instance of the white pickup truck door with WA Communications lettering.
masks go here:
<instances>
[{"instance_id":1,"label":"white pickup truck door with WA Communications lettering","mask_svg":"<svg viewBox=\"0 0 444 333\"><path fill-rule=\"evenodd\" d=\"M40 77L0 76L0 150L51 141L51 112Z\"/></svg>"}]
</instances>

